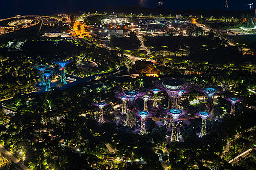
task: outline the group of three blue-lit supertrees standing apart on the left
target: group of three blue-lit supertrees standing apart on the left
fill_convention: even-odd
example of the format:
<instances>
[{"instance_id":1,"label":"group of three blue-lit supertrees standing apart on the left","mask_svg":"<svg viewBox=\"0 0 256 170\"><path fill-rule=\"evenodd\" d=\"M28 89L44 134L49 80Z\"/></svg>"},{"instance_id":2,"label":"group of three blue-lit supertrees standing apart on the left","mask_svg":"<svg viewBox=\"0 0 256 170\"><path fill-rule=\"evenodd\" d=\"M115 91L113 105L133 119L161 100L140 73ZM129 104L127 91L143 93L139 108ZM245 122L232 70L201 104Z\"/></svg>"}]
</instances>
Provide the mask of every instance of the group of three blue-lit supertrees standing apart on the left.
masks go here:
<instances>
[{"instance_id":1,"label":"group of three blue-lit supertrees standing apart on the left","mask_svg":"<svg viewBox=\"0 0 256 170\"><path fill-rule=\"evenodd\" d=\"M57 62L53 62L54 64L57 64L61 67L61 85L65 85L66 84L66 78L65 78L65 66L68 63L71 63L70 61L57 61ZM51 85L50 85L50 76L55 73L54 70L52 69L48 69L49 66L48 65L37 65L34 66L33 68L36 68L40 71L40 86L44 86L46 85L46 89L45 91L50 91L51 90ZM46 83L44 82L44 77L43 75L46 77Z\"/></svg>"}]
</instances>

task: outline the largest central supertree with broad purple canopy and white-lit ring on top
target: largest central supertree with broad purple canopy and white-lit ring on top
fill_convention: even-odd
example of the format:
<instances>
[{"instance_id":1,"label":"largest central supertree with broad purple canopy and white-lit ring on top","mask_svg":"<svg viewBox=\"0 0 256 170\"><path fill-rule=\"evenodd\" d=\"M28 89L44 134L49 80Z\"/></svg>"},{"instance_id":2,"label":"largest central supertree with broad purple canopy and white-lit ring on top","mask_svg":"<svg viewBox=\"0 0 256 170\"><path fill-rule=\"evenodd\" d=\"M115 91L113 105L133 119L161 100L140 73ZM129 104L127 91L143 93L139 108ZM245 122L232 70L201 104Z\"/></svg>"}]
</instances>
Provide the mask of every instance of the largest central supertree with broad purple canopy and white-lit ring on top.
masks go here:
<instances>
[{"instance_id":1,"label":"largest central supertree with broad purple canopy and white-lit ring on top","mask_svg":"<svg viewBox=\"0 0 256 170\"><path fill-rule=\"evenodd\" d=\"M177 107L177 96L181 90L191 88L190 84L185 82L185 80L180 78L162 78L154 82L154 85L158 88L164 89L168 93L168 110Z\"/></svg>"}]
</instances>

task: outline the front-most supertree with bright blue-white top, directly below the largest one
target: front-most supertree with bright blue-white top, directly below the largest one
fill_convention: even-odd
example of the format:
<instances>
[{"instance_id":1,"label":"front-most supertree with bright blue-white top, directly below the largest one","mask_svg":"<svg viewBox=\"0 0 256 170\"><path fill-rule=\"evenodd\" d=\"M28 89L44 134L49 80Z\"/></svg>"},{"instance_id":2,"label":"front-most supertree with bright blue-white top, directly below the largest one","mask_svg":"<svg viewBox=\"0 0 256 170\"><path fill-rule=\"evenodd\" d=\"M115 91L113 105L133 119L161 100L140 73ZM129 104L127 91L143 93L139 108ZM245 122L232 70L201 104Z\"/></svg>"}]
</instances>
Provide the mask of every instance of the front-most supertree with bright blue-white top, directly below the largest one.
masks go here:
<instances>
[{"instance_id":1,"label":"front-most supertree with bright blue-white top, directly below the largest one","mask_svg":"<svg viewBox=\"0 0 256 170\"><path fill-rule=\"evenodd\" d=\"M171 109L168 112L169 115L173 118L172 131L171 131L171 142L178 141L178 118L182 115L182 110Z\"/></svg>"}]
</instances>

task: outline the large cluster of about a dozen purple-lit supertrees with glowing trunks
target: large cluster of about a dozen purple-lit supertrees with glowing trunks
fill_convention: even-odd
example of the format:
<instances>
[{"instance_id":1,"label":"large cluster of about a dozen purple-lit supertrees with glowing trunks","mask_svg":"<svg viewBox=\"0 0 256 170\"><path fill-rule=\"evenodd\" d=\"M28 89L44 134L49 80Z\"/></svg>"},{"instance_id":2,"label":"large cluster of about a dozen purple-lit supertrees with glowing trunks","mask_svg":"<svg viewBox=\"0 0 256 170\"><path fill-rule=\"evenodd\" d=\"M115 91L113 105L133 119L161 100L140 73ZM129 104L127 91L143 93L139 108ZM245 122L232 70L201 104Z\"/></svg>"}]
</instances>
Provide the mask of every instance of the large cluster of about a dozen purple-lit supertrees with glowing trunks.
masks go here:
<instances>
[{"instance_id":1,"label":"large cluster of about a dozen purple-lit supertrees with glowing trunks","mask_svg":"<svg viewBox=\"0 0 256 170\"><path fill-rule=\"evenodd\" d=\"M185 115L187 112L186 110L183 110L181 107L181 97L185 93L189 93L192 91L192 88L194 87L192 84L186 82L184 79L179 78L163 78L161 80L156 80L154 82L155 87L151 87L149 89L139 89L139 90L130 90L130 91L116 91L115 97L122 100L122 115L126 115L125 124L127 126L134 126L136 124L136 115L141 118L141 135L146 134L146 120L149 115L152 115L150 113L150 109L148 110L148 100L150 98L153 99L153 105L152 108L156 110L158 105L158 96L157 94L161 91L166 91L168 94L168 107L167 109L164 109L164 112L167 113L165 118L162 119L171 119L172 118L172 133L171 133L171 142L177 142L178 141L178 119L180 116ZM195 90L202 92L207 97L206 102L206 108L205 111L197 112L197 116L202 118L202 128L201 133L199 137L202 137L206 134L206 119L208 117L213 117L213 96L216 96L223 91L220 87L194 87ZM153 95L150 95L150 92L153 93ZM140 98L144 101L144 108L143 110L138 110L135 107L135 101ZM242 98L239 97L229 97L225 98L226 100L229 100L232 102L232 109L231 114L234 114L235 112L235 103L241 102ZM99 122L103 123L103 107L108 104L107 102L98 102L93 103L93 105L96 105L100 108L100 119ZM168 115L171 116L171 118L167 118ZM161 118L160 118L161 119Z\"/></svg>"}]
</instances>

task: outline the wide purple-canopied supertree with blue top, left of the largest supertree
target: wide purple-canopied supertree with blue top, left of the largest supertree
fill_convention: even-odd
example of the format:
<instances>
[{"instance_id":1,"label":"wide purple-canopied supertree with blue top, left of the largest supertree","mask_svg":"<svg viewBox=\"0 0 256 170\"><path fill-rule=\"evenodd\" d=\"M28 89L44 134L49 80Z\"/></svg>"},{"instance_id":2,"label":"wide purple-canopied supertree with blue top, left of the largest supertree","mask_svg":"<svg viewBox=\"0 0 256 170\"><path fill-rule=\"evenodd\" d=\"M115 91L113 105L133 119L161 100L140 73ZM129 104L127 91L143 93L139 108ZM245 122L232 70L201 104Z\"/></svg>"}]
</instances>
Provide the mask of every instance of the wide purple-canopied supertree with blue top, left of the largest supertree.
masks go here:
<instances>
[{"instance_id":1,"label":"wide purple-canopied supertree with blue top, left of the largest supertree","mask_svg":"<svg viewBox=\"0 0 256 170\"><path fill-rule=\"evenodd\" d=\"M116 96L118 98L120 98L122 96L122 98L126 99L127 103L128 103L128 106L130 108L130 110L134 107L134 103L135 101L143 96L145 94L144 91L126 91L126 92L123 92L123 91L119 91L119 92L116 92ZM124 100L122 99L122 100ZM133 113L132 111L130 110L127 110L127 116L126 116L126 125L127 126L134 126L135 123L136 123L136 117L135 117L135 113Z\"/></svg>"}]
</instances>

